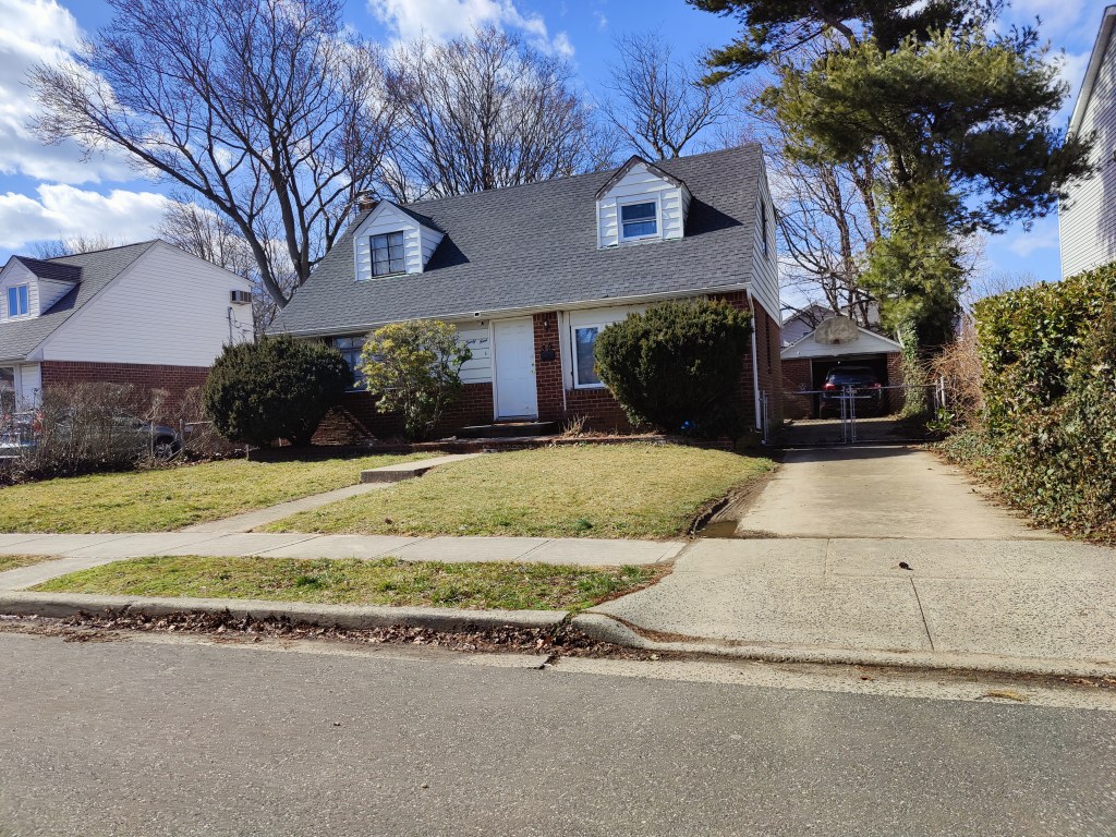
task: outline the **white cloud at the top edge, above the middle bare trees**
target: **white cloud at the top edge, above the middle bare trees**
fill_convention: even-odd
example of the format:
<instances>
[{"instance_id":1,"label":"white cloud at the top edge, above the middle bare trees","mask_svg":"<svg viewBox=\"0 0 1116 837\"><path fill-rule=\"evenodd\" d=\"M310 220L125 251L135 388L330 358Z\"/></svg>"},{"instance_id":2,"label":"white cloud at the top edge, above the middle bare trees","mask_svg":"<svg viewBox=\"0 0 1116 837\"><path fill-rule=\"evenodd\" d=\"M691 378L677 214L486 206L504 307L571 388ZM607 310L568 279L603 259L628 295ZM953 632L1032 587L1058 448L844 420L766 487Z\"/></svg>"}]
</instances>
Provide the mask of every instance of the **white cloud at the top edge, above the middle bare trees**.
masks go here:
<instances>
[{"instance_id":1,"label":"white cloud at the top edge, above the middle bare trees","mask_svg":"<svg viewBox=\"0 0 1116 837\"><path fill-rule=\"evenodd\" d=\"M368 0L368 9L400 40L426 35L448 40L474 27L494 25L518 29L549 52L571 56L566 32L551 37L539 15L523 15L512 0Z\"/></svg>"}]
</instances>

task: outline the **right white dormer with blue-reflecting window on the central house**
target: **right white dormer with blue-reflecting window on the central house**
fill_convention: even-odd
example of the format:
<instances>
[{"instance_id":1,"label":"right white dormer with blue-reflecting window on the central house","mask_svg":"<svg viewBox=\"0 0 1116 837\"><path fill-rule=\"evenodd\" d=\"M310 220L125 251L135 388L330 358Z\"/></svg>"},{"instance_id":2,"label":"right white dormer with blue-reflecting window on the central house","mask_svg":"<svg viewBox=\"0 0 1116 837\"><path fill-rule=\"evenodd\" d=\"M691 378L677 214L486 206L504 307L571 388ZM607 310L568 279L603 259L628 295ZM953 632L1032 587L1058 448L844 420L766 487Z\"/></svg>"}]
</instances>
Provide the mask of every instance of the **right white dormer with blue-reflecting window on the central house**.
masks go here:
<instances>
[{"instance_id":1,"label":"right white dormer with blue-reflecting window on the central house","mask_svg":"<svg viewBox=\"0 0 1116 837\"><path fill-rule=\"evenodd\" d=\"M680 239L689 210L685 183L633 156L597 192L597 247Z\"/></svg>"}]
</instances>

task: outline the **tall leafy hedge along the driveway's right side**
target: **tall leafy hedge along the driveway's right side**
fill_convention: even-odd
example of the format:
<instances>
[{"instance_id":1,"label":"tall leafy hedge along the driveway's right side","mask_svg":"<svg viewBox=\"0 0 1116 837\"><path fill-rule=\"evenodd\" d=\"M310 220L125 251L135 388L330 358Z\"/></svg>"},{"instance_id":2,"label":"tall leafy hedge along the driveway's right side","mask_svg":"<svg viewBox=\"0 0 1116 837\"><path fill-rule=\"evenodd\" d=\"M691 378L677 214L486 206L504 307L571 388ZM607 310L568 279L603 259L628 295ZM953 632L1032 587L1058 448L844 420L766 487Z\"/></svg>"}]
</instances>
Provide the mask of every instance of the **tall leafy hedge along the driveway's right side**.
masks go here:
<instances>
[{"instance_id":1,"label":"tall leafy hedge along the driveway's right side","mask_svg":"<svg viewBox=\"0 0 1116 837\"><path fill-rule=\"evenodd\" d=\"M985 425L950 445L1041 523L1116 539L1116 264L974 308Z\"/></svg>"}]
</instances>

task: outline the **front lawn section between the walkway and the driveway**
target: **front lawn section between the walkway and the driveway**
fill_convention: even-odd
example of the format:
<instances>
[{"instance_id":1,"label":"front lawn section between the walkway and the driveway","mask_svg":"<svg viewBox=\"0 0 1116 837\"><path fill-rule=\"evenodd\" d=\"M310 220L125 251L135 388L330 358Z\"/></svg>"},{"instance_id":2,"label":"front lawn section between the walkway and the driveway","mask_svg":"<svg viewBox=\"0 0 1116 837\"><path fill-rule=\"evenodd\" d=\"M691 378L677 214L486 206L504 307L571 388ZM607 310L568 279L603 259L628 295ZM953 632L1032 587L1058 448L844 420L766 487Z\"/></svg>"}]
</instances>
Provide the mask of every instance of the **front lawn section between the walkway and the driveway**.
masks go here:
<instances>
[{"instance_id":1,"label":"front lawn section between the walkway and the driveway","mask_svg":"<svg viewBox=\"0 0 1116 837\"><path fill-rule=\"evenodd\" d=\"M672 538L709 503L773 468L683 445L496 453L280 520L277 532Z\"/></svg>"}]
</instances>

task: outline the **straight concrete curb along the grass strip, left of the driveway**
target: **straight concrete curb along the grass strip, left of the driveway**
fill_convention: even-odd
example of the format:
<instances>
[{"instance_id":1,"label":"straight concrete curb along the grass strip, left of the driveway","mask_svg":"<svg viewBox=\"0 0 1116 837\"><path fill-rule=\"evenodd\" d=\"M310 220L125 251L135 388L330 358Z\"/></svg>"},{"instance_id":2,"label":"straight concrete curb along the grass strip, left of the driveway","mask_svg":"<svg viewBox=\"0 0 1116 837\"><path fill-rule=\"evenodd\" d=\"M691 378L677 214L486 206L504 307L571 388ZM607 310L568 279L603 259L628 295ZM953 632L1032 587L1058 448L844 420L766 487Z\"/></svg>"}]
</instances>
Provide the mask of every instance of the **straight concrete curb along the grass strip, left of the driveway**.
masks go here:
<instances>
[{"instance_id":1,"label":"straight concrete curb along the grass strip, left of the driveway","mask_svg":"<svg viewBox=\"0 0 1116 837\"><path fill-rule=\"evenodd\" d=\"M310 605L300 602L260 602L228 598L155 598L146 596L93 596L83 593L0 593L0 614L66 618L79 613L125 612L143 616L175 613L224 614L253 619L288 618L318 627L364 631L405 626L432 631L516 627L557 629L567 610L462 610L449 607L388 607L359 605Z\"/></svg>"}]
</instances>

